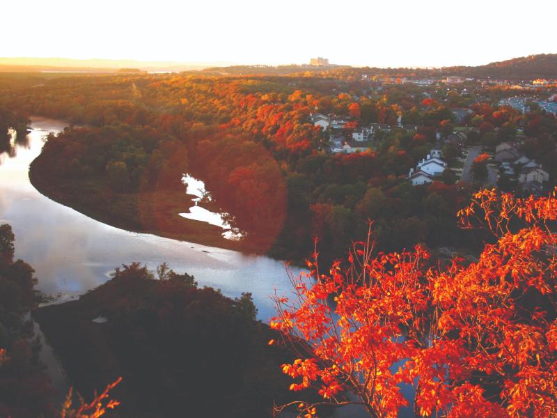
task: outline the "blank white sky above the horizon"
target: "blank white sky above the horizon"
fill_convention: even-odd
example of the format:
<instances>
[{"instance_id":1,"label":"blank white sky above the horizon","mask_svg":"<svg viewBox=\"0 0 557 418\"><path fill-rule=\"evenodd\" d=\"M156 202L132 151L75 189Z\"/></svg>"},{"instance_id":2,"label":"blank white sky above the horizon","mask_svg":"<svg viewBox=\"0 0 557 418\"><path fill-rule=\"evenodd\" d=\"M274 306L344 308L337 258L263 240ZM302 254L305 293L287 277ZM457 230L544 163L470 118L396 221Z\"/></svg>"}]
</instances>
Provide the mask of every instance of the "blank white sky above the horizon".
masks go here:
<instances>
[{"instance_id":1,"label":"blank white sky above the horizon","mask_svg":"<svg viewBox=\"0 0 557 418\"><path fill-rule=\"evenodd\" d=\"M1 0L0 56L477 65L557 52L556 0Z\"/></svg>"}]
</instances>

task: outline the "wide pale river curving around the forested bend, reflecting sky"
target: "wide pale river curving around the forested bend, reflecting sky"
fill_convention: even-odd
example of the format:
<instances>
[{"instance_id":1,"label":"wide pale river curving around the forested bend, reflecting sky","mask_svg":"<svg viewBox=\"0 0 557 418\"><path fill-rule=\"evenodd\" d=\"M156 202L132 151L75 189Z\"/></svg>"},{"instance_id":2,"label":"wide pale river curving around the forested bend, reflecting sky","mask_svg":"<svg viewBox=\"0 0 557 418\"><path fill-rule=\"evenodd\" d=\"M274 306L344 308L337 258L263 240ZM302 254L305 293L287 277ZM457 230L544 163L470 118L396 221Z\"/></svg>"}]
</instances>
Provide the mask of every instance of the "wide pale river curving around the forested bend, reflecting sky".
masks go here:
<instances>
[{"instance_id":1,"label":"wide pale river curving around the forested bend, reflecting sky","mask_svg":"<svg viewBox=\"0 0 557 418\"><path fill-rule=\"evenodd\" d=\"M12 224L16 257L35 268L41 291L61 293L66 300L103 284L122 263L140 261L155 270L166 261L177 272L194 274L201 286L220 288L227 296L251 292L259 318L274 316L269 297L274 288L280 294L290 294L283 262L123 231L37 192L29 183L29 164L40 153L49 132L61 132L65 125L32 118L33 129L26 144L15 141L17 156L0 165L0 222Z\"/></svg>"}]
</instances>

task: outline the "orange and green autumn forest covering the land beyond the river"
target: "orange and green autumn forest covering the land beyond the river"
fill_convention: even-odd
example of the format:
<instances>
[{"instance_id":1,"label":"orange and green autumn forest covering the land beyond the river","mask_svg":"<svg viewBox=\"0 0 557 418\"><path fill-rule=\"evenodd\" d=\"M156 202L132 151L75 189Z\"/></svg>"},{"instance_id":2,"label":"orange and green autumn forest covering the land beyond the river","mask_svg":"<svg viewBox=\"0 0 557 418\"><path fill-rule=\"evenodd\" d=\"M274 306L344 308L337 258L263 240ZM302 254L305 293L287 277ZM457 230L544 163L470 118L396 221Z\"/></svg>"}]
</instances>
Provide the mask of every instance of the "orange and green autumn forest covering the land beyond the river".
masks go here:
<instances>
[{"instance_id":1,"label":"orange and green autumn forest covering the land beyond the river","mask_svg":"<svg viewBox=\"0 0 557 418\"><path fill-rule=\"evenodd\" d=\"M520 115L501 106L496 98L511 93L492 86L447 91L383 76L363 79L361 69L351 68L290 76L89 75L42 83L33 76L19 82L5 91L4 106L83 125L48 141L35 164L40 176L33 177L56 187L70 176L76 190L95 182L91 203L81 202L80 210L95 201L97 208L106 206L100 219L117 217L121 208L99 203L154 192L150 209L130 210L134 222L123 225L153 231L157 225L146 226L142 214L152 224L156 202L182 194L180 172L188 171L205 181L214 204L245 232L246 250L281 258L308 254L315 236L323 256L343 254L366 235L368 219L376 221L384 249L425 242L477 250L478 240L456 228L455 213L478 185L455 183L450 172L427 187L405 180L439 144L439 135L444 139L457 126L468 130L469 144L492 147L523 127L526 154L540 160L551 178L557 174L554 116ZM455 108L470 114L457 121ZM310 120L316 111L349 121L339 133L344 140L358 125L393 129L377 132L366 153L329 154L329 134ZM401 128L407 124L414 130ZM451 144L443 150L449 162L460 155ZM165 228L171 226L159 226Z\"/></svg>"}]
</instances>

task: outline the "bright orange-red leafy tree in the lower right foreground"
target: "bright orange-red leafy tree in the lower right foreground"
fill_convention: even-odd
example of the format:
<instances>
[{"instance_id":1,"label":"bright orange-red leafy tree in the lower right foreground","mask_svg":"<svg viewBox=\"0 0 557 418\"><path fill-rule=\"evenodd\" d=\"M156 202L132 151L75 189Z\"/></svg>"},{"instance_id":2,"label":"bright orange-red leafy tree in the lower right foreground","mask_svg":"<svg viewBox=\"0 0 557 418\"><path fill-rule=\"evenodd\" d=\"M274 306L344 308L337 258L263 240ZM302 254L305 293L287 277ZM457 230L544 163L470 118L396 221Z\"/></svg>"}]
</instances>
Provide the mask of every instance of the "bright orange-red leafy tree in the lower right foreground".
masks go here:
<instances>
[{"instance_id":1,"label":"bright orange-red leafy tree in the lower right foreground","mask_svg":"<svg viewBox=\"0 0 557 418\"><path fill-rule=\"evenodd\" d=\"M314 261L292 279L297 297L276 298L271 324L279 344L307 342L282 366L291 390L314 387L320 404L360 403L372 417L407 405L423 417L557 415L556 194L483 190L459 219L496 237L477 263L441 269L421 247L372 256L372 242L358 242L347 269L321 274ZM316 413L313 403L289 406Z\"/></svg>"}]
</instances>

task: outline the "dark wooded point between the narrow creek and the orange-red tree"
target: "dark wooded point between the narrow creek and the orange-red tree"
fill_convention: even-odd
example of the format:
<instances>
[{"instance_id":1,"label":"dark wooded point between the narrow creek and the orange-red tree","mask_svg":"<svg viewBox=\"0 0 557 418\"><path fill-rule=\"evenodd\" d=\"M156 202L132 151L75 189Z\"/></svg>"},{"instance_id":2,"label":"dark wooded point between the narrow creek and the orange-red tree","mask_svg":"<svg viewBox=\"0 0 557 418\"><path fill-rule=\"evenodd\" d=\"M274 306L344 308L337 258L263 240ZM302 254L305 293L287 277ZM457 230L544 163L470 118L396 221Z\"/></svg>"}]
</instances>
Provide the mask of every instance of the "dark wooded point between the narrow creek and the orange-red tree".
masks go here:
<instances>
[{"instance_id":1,"label":"dark wooded point between the narrow creek and the orange-red tree","mask_svg":"<svg viewBox=\"0 0 557 418\"><path fill-rule=\"evenodd\" d=\"M198 288L166 265L156 278L123 265L79 300L33 316L81 394L122 376L111 391L120 416L265 417L292 398L280 372L292 357L267 345L277 334L256 321L251 295Z\"/></svg>"}]
</instances>

